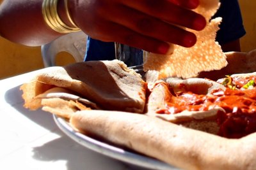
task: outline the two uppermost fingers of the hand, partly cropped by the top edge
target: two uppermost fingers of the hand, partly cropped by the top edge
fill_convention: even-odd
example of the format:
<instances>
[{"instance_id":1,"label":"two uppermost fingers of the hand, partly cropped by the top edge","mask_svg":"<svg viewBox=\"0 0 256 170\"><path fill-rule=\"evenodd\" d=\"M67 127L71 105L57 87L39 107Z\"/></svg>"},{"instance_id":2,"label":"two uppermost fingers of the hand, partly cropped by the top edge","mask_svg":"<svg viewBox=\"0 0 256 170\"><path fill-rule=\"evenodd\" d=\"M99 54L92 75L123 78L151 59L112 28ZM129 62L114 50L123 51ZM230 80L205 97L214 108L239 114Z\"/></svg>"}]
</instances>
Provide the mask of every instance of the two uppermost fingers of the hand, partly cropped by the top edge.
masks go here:
<instances>
[{"instance_id":1,"label":"two uppermost fingers of the hand, partly cropped by the top edge","mask_svg":"<svg viewBox=\"0 0 256 170\"><path fill-rule=\"evenodd\" d=\"M206 25L205 18L186 9L197 6L198 0L138 0L125 1L125 5L170 24L200 31ZM190 2L190 3L189 3ZM193 4L195 3L195 4Z\"/></svg>"}]
</instances>

